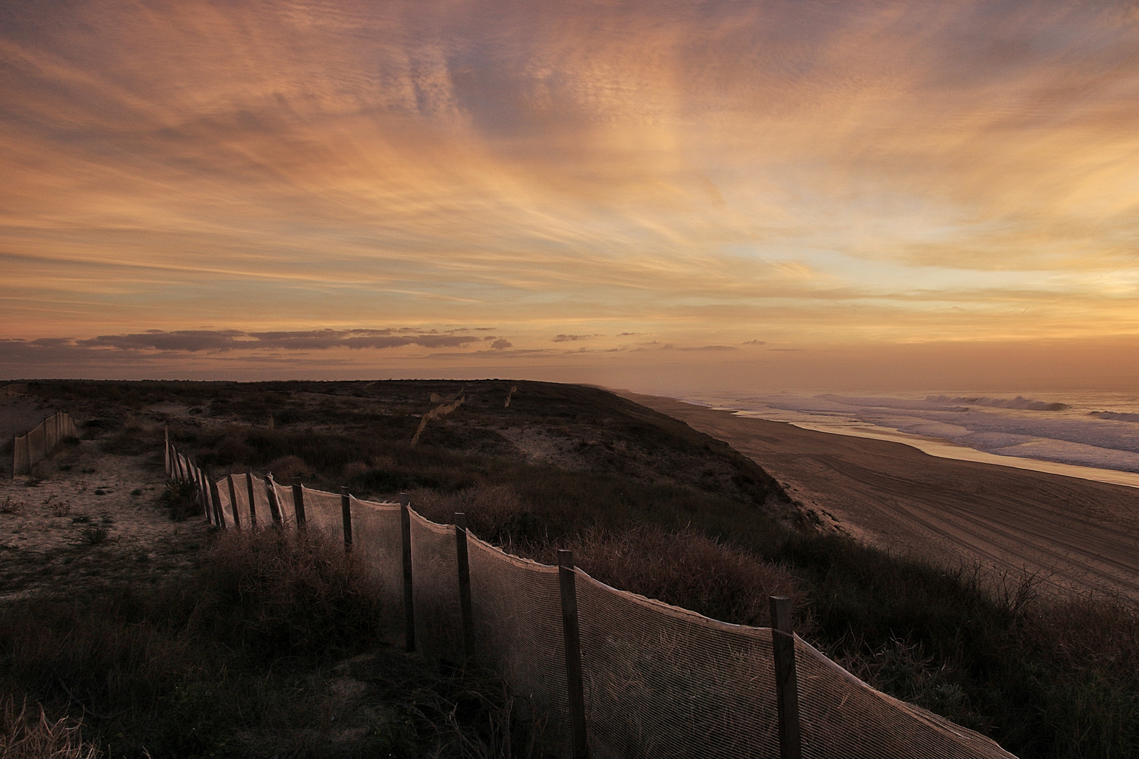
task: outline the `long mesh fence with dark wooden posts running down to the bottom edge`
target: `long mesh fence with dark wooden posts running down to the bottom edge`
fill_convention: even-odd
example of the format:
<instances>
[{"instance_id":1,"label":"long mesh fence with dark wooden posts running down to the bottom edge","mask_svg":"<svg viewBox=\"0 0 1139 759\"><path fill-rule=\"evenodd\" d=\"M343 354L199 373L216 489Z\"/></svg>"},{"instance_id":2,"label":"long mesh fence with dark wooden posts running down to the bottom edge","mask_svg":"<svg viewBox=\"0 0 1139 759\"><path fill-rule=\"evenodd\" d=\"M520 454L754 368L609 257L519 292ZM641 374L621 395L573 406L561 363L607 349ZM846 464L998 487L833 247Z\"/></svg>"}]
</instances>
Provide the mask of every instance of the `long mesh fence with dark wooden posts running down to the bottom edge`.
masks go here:
<instances>
[{"instance_id":1,"label":"long mesh fence with dark wooden posts running down to the bottom edge","mask_svg":"<svg viewBox=\"0 0 1139 759\"><path fill-rule=\"evenodd\" d=\"M781 600L778 629L729 625L599 583L570 552L558 567L507 554L468 534L461 514L437 525L405 496L207 477L169 438L166 472L196 484L219 528L272 513L277 526L343 539L379 580L386 640L493 669L546 716L546 739L567 759L1015 759L827 659L790 632Z\"/></svg>"}]
</instances>

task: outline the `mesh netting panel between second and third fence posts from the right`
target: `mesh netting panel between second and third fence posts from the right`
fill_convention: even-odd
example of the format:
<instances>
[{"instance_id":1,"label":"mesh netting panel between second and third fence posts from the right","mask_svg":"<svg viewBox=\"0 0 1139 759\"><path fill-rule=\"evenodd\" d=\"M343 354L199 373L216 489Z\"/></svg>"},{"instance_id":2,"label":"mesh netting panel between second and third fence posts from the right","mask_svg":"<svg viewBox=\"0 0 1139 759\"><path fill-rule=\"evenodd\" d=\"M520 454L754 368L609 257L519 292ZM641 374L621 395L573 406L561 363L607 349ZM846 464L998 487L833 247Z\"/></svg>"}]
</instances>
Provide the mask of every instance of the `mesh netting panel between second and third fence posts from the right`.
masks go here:
<instances>
[{"instance_id":1,"label":"mesh netting panel between second and third fence posts from the right","mask_svg":"<svg viewBox=\"0 0 1139 759\"><path fill-rule=\"evenodd\" d=\"M475 657L547 721L546 741L572 751L558 568L467 539ZM418 613L418 608L417 608Z\"/></svg>"}]
</instances>

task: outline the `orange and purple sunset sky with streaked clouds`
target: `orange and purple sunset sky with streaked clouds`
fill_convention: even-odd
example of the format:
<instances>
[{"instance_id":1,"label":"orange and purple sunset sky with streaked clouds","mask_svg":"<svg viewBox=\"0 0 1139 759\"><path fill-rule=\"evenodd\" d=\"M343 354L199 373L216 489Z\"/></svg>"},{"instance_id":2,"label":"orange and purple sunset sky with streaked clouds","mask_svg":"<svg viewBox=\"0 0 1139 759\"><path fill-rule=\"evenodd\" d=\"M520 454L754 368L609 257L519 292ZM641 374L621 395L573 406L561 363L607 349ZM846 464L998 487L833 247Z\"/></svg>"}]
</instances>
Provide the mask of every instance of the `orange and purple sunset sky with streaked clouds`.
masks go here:
<instances>
[{"instance_id":1,"label":"orange and purple sunset sky with streaked clouds","mask_svg":"<svg viewBox=\"0 0 1139 759\"><path fill-rule=\"evenodd\" d=\"M1139 6L0 0L0 377L1134 387Z\"/></svg>"}]
</instances>

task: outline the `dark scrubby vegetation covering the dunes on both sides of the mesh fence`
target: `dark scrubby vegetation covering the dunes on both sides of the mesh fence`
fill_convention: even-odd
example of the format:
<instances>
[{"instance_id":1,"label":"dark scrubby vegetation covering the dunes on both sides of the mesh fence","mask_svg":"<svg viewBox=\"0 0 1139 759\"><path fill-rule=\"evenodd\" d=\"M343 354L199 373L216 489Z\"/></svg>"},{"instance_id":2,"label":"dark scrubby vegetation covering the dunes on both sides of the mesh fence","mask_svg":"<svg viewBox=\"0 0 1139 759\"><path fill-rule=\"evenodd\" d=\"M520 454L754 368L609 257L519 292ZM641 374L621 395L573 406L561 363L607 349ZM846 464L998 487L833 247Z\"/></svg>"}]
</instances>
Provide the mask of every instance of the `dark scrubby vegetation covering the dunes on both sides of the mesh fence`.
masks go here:
<instances>
[{"instance_id":1,"label":"dark scrubby vegetation covering the dunes on both sides of the mesh fence","mask_svg":"<svg viewBox=\"0 0 1139 759\"><path fill-rule=\"evenodd\" d=\"M767 596L790 595L800 634L847 669L1017 756L1139 756L1132 600L1058 597L1038 578L935 567L823 531L754 462L600 389L58 381L28 391L85 421L107 451L148 455L165 423L214 471L272 471L360 497L405 492L436 521L464 511L472 531L513 553L551 562L568 547L603 581L724 621L765 625ZM439 405L432 394L464 402L412 446ZM180 497L155 508L185 518L192 504ZM7 602L6 719L31 729L42 704L44 725L75 728L68 741L82 720L82 740L109 756L156 759L470 756L468 744L541 756L540 716L493 676L431 673L384 649L367 624L372 597L351 556L319 536L269 531L211 537L196 569L157 589ZM371 694L343 729L330 719L336 687ZM460 702L454 721L448 704Z\"/></svg>"}]
</instances>

